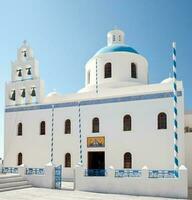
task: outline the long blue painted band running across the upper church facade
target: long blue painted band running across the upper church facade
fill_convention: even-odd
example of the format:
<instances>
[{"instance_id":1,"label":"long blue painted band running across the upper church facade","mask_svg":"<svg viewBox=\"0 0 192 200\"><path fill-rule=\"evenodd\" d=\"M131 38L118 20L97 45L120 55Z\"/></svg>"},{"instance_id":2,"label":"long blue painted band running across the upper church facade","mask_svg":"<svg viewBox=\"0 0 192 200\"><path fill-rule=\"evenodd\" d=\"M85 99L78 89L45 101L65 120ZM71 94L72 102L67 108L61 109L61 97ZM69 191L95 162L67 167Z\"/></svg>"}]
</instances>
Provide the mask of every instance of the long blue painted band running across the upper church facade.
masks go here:
<instances>
[{"instance_id":1,"label":"long blue painted band running across the upper church facade","mask_svg":"<svg viewBox=\"0 0 192 200\"><path fill-rule=\"evenodd\" d=\"M182 96L182 91L178 91L177 95ZM127 97L116 97L116 98L107 98L107 99L84 100L80 102L80 105L87 106L87 105L108 104L108 103L121 103L121 102L127 102L127 101L152 100L152 99L162 99L162 98L170 98L170 97L173 97L173 92L145 94L145 95L127 96ZM77 107L79 104L77 101L77 102L33 105L33 106L24 106L24 107L8 107L5 109L5 112L52 109L52 105L54 105L54 108L64 108L64 107Z\"/></svg>"}]
</instances>

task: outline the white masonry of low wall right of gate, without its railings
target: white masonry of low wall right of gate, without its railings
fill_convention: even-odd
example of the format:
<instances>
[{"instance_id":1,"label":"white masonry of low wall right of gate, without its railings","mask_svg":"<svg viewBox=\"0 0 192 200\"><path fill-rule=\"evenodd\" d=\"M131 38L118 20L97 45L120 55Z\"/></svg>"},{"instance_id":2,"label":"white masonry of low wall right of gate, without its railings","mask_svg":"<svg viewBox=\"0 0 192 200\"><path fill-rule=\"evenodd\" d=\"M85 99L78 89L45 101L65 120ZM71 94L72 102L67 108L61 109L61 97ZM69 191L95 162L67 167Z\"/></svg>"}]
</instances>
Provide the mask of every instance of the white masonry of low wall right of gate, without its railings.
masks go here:
<instances>
[{"instance_id":1,"label":"white masonry of low wall right of gate, without its railings","mask_svg":"<svg viewBox=\"0 0 192 200\"><path fill-rule=\"evenodd\" d=\"M76 168L75 189L89 192L131 194L187 198L187 170L179 170L179 178L148 178L148 170L142 170L141 177L114 177L109 169L107 176L84 176L84 169Z\"/></svg>"}]
</instances>

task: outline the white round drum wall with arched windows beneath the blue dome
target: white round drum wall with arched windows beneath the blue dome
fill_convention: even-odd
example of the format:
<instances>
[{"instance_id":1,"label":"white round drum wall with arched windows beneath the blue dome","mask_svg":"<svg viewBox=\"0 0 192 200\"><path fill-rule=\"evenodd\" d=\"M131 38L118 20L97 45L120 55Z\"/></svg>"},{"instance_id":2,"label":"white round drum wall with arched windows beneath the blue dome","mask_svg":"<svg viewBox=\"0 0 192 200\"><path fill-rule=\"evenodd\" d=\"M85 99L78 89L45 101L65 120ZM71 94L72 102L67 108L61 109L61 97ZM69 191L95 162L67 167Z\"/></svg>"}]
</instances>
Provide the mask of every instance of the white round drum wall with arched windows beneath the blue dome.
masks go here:
<instances>
[{"instance_id":1,"label":"white round drum wall with arched windows beneath the blue dome","mask_svg":"<svg viewBox=\"0 0 192 200\"><path fill-rule=\"evenodd\" d=\"M91 58L85 66L85 88L80 92L95 90L96 85L96 59L97 79L99 89L118 88L131 85L148 84L148 63L147 60L138 54L128 52L105 53ZM112 77L104 78L104 66L112 64ZM131 78L131 63L137 66L137 78ZM87 84L87 74L90 71L90 84Z\"/></svg>"}]
</instances>

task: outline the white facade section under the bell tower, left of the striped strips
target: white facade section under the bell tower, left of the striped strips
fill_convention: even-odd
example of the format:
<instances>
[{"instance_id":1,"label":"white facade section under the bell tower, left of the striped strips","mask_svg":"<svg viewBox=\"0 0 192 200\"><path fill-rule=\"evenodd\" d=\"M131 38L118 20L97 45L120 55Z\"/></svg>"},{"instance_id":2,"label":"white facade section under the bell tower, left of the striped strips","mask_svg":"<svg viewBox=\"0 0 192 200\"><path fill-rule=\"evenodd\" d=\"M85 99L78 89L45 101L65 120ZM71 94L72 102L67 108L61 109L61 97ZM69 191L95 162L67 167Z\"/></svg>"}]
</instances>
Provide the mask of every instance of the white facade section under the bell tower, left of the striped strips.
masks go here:
<instances>
[{"instance_id":1,"label":"white facade section under the bell tower, left of the striped strips","mask_svg":"<svg viewBox=\"0 0 192 200\"><path fill-rule=\"evenodd\" d=\"M46 135L40 135L40 122L46 121ZM23 123L23 135L17 136L17 124ZM50 162L51 111L35 110L5 115L5 166L17 165L17 155L23 154L23 163L43 167Z\"/></svg>"}]
</instances>

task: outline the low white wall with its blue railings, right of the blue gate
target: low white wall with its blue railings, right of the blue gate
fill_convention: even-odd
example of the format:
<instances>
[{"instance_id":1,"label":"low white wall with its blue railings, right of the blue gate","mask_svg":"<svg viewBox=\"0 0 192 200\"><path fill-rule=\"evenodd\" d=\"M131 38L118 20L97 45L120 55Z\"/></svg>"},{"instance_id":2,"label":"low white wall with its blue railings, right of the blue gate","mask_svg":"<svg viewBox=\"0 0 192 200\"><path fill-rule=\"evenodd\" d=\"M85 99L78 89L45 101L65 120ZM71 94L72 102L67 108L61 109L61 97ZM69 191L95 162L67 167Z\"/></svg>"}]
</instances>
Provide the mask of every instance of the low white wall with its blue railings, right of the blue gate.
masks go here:
<instances>
[{"instance_id":1,"label":"low white wall with its blue railings, right of the blue gate","mask_svg":"<svg viewBox=\"0 0 192 200\"><path fill-rule=\"evenodd\" d=\"M174 170L86 170L75 169L75 189L90 192L187 198L187 169Z\"/></svg>"}]
</instances>

